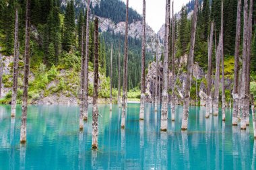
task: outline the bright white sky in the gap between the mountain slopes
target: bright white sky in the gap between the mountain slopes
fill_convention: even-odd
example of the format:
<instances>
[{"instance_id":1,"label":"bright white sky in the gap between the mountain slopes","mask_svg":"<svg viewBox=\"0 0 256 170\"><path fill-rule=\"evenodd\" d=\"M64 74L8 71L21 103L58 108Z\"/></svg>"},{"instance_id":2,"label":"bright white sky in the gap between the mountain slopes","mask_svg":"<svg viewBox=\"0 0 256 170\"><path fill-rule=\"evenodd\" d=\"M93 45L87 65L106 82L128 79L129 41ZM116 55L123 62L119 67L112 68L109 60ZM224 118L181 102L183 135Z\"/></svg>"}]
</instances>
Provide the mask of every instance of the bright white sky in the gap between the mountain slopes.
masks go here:
<instances>
[{"instance_id":1,"label":"bright white sky in the gap between the mountain slopes","mask_svg":"<svg viewBox=\"0 0 256 170\"><path fill-rule=\"evenodd\" d=\"M126 3L126 0L121 0ZM181 7L190 0L174 0L174 13L181 10ZM172 3L172 0L170 0ZM146 0L146 22L158 32L165 22L165 0ZM142 14L142 0L129 0L129 7L132 7L137 13ZM171 11L172 13L172 11Z\"/></svg>"}]
</instances>

